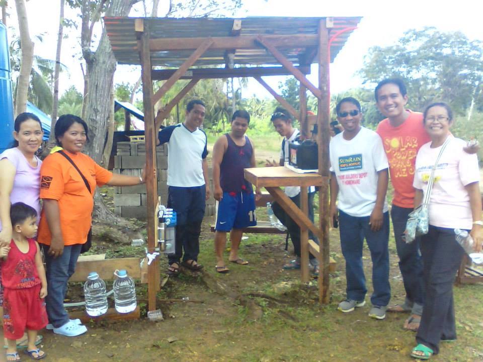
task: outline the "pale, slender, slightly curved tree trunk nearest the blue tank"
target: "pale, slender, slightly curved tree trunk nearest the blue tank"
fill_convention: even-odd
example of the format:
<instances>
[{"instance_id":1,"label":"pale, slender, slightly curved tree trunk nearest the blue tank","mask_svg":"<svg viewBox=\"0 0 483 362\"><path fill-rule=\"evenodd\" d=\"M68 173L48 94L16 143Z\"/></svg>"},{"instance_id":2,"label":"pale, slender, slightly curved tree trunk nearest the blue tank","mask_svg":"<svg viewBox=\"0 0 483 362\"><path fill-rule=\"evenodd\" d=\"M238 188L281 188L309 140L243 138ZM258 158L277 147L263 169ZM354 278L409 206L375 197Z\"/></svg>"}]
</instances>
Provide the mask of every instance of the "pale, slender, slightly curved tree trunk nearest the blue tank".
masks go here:
<instances>
[{"instance_id":1,"label":"pale, slender, slightly curved tree trunk nearest the blue tank","mask_svg":"<svg viewBox=\"0 0 483 362\"><path fill-rule=\"evenodd\" d=\"M15 0L17 17L19 19L20 44L22 59L20 63L19 79L17 80L17 95L15 96L15 115L27 110L27 95L30 84L30 73L34 61L34 43L30 39L27 9L24 0Z\"/></svg>"}]
</instances>

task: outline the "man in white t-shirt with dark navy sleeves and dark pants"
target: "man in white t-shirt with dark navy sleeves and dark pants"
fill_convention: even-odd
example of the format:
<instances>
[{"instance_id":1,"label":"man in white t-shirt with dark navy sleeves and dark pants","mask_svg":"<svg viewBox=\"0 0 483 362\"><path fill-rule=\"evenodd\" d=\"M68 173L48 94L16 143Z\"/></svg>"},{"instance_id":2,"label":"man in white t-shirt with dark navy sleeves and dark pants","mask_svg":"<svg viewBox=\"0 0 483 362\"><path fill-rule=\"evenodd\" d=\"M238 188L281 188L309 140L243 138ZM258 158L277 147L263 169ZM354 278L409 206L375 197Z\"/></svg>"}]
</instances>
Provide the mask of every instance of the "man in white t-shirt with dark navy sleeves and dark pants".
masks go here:
<instances>
[{"instance_id":1,"label":"man in white t-shirt with dark navy sleeves and dark pants","mask_svg":"<svg viewBox=\"0 0 483 362\"><path fill-rule=\"evenodd\" d=\"M192 100L186 106L183 123L159 132L159 144L168 143L168 207L177 213L176 251L168 255L170 275L178 275L180 265L191 270L203 267L197 261L199 238L205 200L210 194L207 139L199 128L204 118L204 103Z\"/></svg>"}]
</instances>

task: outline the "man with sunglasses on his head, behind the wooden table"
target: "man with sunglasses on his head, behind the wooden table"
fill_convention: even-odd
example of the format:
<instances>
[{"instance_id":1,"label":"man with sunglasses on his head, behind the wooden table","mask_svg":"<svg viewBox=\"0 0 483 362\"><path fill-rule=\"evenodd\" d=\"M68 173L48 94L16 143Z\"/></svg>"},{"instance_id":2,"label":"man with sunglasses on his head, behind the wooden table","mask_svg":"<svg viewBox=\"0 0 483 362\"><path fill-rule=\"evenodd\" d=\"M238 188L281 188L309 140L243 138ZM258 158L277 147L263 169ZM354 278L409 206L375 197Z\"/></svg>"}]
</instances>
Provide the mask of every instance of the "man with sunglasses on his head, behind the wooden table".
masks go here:
<instances>
[{"instance_id":1,"label":"man with sunglasses on his head, behind the wooden table","mask_svg":"<svg viewBox=\"0 0 483 362\"><path fill-rule=\"evenodd\" d=\"M277 107L270 119L275 127L275 130L284 137L282 141L282 149L280 150L280 163L267 165L283 166L288 163L288 144L294 142L300 135L298 129L292 127L292 118L289 113L281 108ZM274 162L275 163L275 162ZM284 189L285 195L287 195L295 205L300 208L300 187L298 186L286 186ZM310 220L313 222L313 198L315 195L315 188L311 186L308 190L308 214ZM285 210L276 202L272 205L272 210L275 216L280 222L287 227L290 239L292 240L293 249L295 253L295 259L286 263L284 269L299 269L300 268L300 227L298 224L285 212ZM318 239L309 231L309 238L314 240L318 244ZM312 254L309 254L310 265L313 266L313 274L318 274L318 260Z\"/></svg>"}]
</instances>

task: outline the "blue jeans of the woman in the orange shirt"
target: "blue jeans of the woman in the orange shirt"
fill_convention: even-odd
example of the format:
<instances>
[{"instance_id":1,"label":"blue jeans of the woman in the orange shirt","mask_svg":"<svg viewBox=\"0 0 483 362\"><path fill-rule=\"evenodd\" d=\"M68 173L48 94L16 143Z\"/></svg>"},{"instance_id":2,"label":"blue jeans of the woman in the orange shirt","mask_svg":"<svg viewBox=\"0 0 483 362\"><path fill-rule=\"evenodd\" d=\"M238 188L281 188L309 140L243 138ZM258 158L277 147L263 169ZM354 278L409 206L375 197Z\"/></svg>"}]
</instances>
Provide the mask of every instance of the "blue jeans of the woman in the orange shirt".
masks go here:
<instances>
[{"instance_id":1,"label":"blue jeans of the woman in the orange shirt","mask_svg":"<svg viewBox=\"0 0 483 362\"><path fill-rule=\"evenodd\" d=\"M64 246L62 255L53 258L48 254L49 246L42 244L45 255L47 274L47 297L45 298L49 322L58 328L69 321L69 315L64 308L64 298L67 293L67 282L74 274L77 258L81 254L81 244Z\"/></svg>"}]
</instances>

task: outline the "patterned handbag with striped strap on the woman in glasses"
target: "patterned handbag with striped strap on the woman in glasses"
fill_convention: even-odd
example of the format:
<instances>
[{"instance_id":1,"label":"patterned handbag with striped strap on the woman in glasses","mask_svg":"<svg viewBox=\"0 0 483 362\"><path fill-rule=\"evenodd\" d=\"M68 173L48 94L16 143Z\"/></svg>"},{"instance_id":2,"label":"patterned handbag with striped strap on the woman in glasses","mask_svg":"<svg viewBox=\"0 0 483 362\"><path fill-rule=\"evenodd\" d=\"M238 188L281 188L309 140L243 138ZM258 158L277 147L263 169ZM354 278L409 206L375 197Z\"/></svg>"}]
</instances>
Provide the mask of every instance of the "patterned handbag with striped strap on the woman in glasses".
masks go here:
<instances>
[{"instance_id":1,"label":"patterned handbag with striped strap on the woman in glasses","mask_svg":"<svg viewBox=\"0 0 483 362\"><path fill-rule=\"evenodd\" d=\"M431 190L433 189L434 172L438 166L441 154L446 148L448 142L449 137L443 143L443 146L439 150L438 157L436 157L436 162L431 170L431 176L428 180L428 189L426 190L423 203L408 215L406 230L404 231L406 243L413 242L418 236L425 235L429 231L429 201L431 198Z\"/></svg>"}]
</instances>

